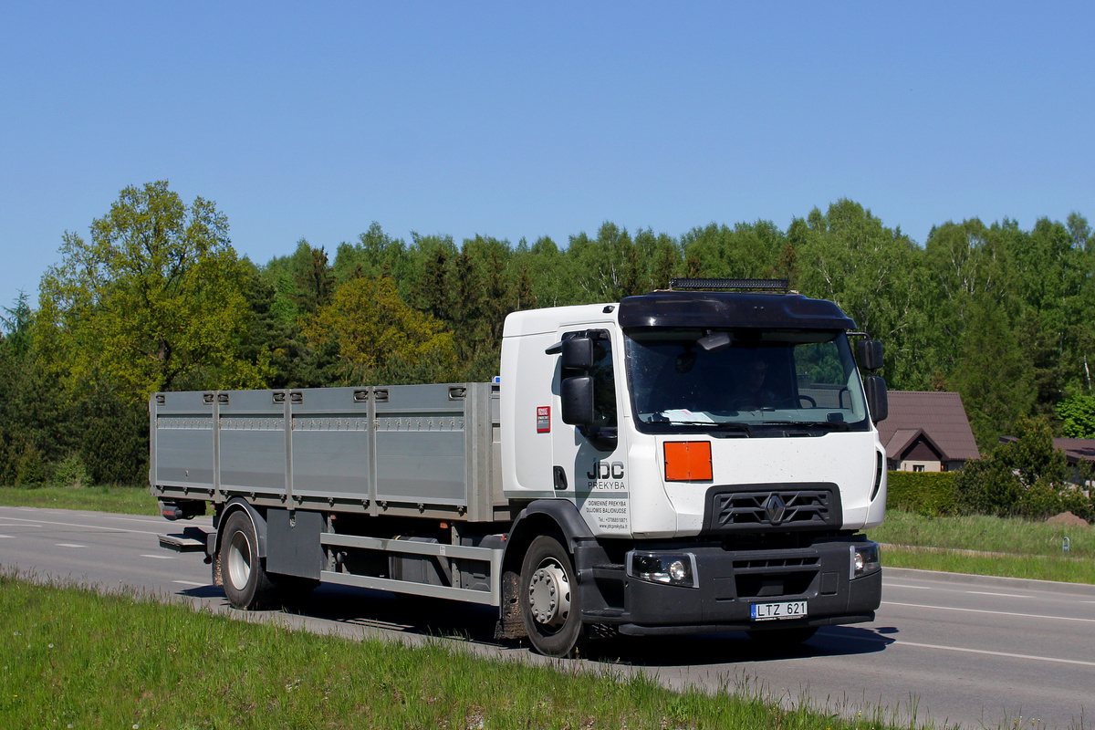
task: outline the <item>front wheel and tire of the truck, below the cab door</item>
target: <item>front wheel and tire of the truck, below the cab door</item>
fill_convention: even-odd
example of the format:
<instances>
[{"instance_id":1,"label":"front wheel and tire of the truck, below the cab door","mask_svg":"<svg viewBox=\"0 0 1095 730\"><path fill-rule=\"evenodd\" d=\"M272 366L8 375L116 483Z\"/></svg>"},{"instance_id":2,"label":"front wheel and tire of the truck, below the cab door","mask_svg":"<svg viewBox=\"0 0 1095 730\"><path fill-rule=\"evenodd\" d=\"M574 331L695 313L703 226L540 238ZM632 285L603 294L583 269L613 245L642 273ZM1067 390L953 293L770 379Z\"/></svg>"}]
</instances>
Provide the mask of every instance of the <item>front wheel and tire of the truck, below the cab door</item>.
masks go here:
<instances>
[{"instance_id":1,"label":"front wheel and tire of the truck, below the cab door","mask_svg":"<svg viewBox=\"0 0 1095 730\"><path fill-rule=\"evenodd\" d=\"M584 644L574 564L555 536L540 535L529 545L521 561L518 596L533 649L548 657L566 657Z\"/></svg>"}]
</instances>

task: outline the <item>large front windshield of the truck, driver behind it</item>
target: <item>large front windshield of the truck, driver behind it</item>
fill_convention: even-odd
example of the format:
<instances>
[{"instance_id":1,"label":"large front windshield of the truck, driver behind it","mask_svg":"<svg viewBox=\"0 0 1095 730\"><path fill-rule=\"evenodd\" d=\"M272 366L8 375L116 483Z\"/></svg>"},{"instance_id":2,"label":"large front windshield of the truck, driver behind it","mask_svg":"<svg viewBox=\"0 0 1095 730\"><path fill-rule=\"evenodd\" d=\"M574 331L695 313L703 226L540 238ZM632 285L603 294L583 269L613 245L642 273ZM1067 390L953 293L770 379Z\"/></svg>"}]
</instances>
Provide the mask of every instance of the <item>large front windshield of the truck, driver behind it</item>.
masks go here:
<instances>
[{"instance_id":1,"label":"large front windshield of the truck, driver behind it","mask_svg":"<svg viewBox=\"0 0 1095 730\"><path fill-rule=\"evenodd\" d=\"M869 429L842 331L636 327L625 334L639 430Z\"/></svg>"}]
</instances>

